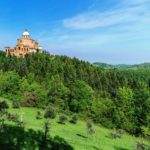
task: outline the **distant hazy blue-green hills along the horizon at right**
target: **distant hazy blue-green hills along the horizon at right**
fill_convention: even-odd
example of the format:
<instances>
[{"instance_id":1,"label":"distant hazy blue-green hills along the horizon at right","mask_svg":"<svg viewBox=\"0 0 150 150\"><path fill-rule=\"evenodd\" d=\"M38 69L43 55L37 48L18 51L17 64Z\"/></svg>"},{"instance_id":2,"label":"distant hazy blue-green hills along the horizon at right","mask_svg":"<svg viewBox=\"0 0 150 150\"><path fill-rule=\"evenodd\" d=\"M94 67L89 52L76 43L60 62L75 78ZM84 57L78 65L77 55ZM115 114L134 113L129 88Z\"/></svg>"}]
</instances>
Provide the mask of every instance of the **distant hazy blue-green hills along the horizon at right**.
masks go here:
<instances>
[{"instance_id":1,"label":"distant hazy blue-green hills along the horizon at right","mask_svg":"<svg viewBox=\"0 0 150 150\"><path fill-rule=\"evenodd\" d=\"M127 65L127 64L118 64L118 65L111 65L107 63L100 63L96 62L93 63L94 66L105 68L105 69L150 69L150 63L142 63L142 64L135 64L135 65Z\"/></svg>"}]
</instances>

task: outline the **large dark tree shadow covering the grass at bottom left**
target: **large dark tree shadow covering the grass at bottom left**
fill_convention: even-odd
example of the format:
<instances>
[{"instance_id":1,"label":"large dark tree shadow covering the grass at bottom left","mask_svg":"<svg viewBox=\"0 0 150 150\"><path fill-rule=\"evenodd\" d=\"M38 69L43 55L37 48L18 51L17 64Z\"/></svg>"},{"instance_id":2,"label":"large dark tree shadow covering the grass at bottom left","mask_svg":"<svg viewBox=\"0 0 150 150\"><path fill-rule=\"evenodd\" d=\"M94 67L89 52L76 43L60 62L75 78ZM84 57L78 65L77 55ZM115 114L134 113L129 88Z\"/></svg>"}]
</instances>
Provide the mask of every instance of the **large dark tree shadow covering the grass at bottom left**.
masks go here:
<instances>
[{"instance_id":1,"label":"large dark tree shadow covering the grass at bottom left","mask_svg":"<svg viewBox=\"0 0 150 150\"><path fill-rule=\"evenodd\" d=\"M20 127L6 126L0 133L0 149L2 150L73 150L63 138L44 138L41 131L32 129L25 131Z\"/></svg>"}]
</instances>

